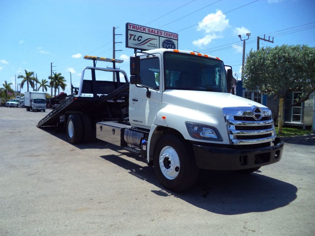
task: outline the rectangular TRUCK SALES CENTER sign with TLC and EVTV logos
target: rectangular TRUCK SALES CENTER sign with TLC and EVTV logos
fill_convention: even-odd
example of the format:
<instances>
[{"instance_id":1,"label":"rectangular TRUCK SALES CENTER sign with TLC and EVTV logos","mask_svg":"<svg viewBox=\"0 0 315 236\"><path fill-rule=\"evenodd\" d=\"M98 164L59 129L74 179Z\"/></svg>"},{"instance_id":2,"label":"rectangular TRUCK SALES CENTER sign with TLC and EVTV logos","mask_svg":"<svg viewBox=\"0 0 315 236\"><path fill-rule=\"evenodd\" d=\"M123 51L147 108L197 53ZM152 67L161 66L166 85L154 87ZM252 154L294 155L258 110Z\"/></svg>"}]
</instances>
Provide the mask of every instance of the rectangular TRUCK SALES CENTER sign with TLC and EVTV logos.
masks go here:
<instances>
[{"instance_id":1,"label":"rectangular TRUCK SALES CENTER sign with TLC and EVTV logos","mask_svg":"<svg viewBox=\"0 0 315 236\"><path fill-rule=\"evenodd\" d=\"M178 49L178 34L126 23L126 48L140 50Z\"/></svg>"}]
</instances>

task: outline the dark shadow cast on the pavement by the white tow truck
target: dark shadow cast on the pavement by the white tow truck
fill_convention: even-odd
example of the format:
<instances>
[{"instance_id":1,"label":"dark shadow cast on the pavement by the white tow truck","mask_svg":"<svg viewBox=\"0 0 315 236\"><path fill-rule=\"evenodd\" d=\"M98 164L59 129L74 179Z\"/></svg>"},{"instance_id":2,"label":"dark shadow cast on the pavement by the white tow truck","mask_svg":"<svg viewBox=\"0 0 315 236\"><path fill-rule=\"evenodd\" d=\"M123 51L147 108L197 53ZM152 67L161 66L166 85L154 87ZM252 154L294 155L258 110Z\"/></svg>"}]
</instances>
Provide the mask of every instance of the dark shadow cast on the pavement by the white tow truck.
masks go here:
<instances>
[{"instance_id":1,"label":"dark shadow cast on the pavement by the white tow truck","mask_svg":"<svg viewBox=\"0 0 315 236\"><path fill-rule=\"evenodd\" d=\"M151 190L160 197L180 198L198 208L222 215L271 211L288 205L297 197L294 185L264 176L261 171L244 175L234 171L200 170L197 183L192 188L173 193L158 182L152 166L143 167L117 155L101 158L161 188Z\"/></svg>"}]
</instances>

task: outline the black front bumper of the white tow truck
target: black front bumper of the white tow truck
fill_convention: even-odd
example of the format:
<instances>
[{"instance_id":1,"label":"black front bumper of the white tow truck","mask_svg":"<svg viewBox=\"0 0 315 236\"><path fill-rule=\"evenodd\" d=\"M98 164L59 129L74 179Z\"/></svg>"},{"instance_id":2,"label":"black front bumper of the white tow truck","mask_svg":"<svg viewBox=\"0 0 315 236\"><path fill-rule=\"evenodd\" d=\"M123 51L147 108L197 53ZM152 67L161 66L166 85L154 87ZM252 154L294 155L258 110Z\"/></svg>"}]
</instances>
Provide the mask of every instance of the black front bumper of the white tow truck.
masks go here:
<instances>
[{"instance_id":1,"label":"black front bumper of the white tow truck","mask_svg":"<svg viewBox=\"0 0 315 236\"><path fill-rule=\"evenodd\" d=\"M280 138L275 139L274 146L257 149L192 145L197 166L209 170L243 170L276 163L281 159L283 146Z\"/></svg>"}]
</instances>

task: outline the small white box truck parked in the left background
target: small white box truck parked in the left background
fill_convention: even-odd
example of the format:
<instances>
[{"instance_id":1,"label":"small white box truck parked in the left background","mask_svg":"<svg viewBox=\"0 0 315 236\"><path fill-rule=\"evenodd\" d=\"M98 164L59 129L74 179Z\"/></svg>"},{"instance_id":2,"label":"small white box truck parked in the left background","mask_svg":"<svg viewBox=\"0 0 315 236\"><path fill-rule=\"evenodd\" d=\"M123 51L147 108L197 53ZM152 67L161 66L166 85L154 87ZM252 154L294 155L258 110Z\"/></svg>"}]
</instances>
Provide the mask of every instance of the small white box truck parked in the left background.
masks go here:
<instances>
[{"instance_id":1,"label":"small white box truck parked in the left background","mask_svg":"<svg viewBox=\"0 0 315 236\"><path fill-rule=\"evenodd\" d=\"M25 92L24 107L27 111L46 110L46 95L44 92Z\"/></svg>"}]
</instances>

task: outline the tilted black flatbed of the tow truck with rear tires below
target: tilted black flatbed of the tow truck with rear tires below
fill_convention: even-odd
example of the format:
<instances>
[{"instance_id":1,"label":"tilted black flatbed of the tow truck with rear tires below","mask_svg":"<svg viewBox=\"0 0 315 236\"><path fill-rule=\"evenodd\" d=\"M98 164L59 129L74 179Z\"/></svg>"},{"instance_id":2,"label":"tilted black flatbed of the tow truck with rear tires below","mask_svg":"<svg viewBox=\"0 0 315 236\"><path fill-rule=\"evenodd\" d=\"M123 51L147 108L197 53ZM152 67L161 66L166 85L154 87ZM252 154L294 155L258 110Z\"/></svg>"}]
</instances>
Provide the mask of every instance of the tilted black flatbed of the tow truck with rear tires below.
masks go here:
<instances>
[{"instance_id":1,"label":"tilted black flatbed of the tow truck with rear tires below","mask_svg":"<svg viewBox=\"0 0 315 236\"><path fill-rule=\"evenodd\" d=\"M90 59L86 57L85 59ZM81 130L73 129L73 133L70 132L70 134L67 130L69 141L84 143L95 138L96 122L118 121L128 124L129 81L127 75L119 69L95 67L95 60L102 59L93 57L94 67L83 69L78 95L67 97L64 102L41 119L37 127L64 128L68 126L70 117L71 122L76 123L74 126L81 127ZM119 63L121 60L115 60L117 61ZM83 79L86 70L91 70L92 80ZM97 81L95 71L115 72L117 81ZM124 78L120 78L121 75Z\"/></svg>"}]
</instances>

